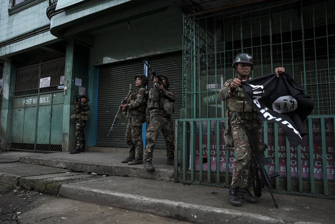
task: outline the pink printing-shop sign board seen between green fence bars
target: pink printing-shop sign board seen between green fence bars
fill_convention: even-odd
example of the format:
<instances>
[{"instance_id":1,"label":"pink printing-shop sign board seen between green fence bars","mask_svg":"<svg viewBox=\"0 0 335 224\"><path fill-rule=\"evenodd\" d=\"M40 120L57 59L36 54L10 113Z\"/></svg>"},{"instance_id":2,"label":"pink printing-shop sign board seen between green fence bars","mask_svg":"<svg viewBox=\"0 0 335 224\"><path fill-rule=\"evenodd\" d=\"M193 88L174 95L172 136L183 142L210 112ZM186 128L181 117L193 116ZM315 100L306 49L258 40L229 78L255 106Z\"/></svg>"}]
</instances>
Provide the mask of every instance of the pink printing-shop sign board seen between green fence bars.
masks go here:
<instances>
[{"instance_id":1,"label":"pink printing-shop sign board seen between green fence bars","mask_svg":"<svg viewBox=\"0 0 335 224\"><path fill-rule=\"evenodd\" d=\"M334 136L333 131L333 121L331 119L325 120L325 137L326 137L326 170L328 180L334 180L334 163L333 160L333 143L332 138ZM201 153L199 151L199 123L196 122L196 135L195 135L195 149L196 149L196 160L195 160L195 167L196 170L199 170L199 157L202 154L202 161L203 166L202 170L207 170L207 122L203 122L203 133L202 133L202 150ZM216 133L215 133L215 122L211 121L211 129L210 129L210 161L211 161L211 171L216 171ZM220 172L226 171L226 153L228 154L228 170L229 173L232 173L233 164L235 161L234 156L234 148L226 148L224 139L223 139L223 132L224 132L224 121L219 122L219 147L220 147ZM268 128L268 136L274 136L273 127ZM314 148L314 178L316 180L322 180L322 149L321 149L321 133L320 133L320 124L313 120L313 148ZM269 137L268 138L268 155L272 157L272 163L268 165L268 173L272 174L275 172L275 149L274 149L274 139ZM287 167L286 167L286 136L283 129L278 128L278 156L279 156L279 172L280 177L286 177L287 175ZM297 164L297 149L290 146L290 174L291 178L299 178L299 170ZM303 136L303 143L301 144L301 163L302 163L302 178L309 179L310 177L310 165L309 165L309 147L308 147L308 140L307 136Z\"/></svg>"}]
</instances>

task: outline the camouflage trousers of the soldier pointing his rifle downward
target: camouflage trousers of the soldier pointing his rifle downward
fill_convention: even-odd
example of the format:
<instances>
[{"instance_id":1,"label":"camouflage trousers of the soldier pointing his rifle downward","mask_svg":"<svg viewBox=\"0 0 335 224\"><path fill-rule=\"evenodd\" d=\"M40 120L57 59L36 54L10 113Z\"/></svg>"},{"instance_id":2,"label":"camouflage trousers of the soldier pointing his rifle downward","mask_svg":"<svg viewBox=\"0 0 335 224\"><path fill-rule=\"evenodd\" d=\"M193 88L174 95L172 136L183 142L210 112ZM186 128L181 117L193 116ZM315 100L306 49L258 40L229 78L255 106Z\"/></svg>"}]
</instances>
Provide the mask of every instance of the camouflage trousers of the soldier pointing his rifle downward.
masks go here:
<instances>
[{"instance_id":1,"label":"camouflage trousers of the soldier pointing his rifle downward","mask_svg":"<svg viewBox=\"0 0 335 224\"><path fill-rule=\"evenodd\" d=\"M129 146L129 157L143 159L142 120L144 115L132 115L128 120L126 142Z\"/></svg>"}]
</instances>

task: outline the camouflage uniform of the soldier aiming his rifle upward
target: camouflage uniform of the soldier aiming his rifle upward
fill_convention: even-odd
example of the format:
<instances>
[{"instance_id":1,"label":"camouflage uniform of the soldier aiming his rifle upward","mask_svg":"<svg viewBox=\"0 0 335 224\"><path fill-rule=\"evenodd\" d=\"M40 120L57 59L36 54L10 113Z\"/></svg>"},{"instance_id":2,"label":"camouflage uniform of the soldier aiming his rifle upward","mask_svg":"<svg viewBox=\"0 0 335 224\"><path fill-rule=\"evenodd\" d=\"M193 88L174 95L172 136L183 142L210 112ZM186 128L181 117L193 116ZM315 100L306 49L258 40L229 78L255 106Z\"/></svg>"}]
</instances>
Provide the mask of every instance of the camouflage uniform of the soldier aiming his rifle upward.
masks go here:
<instances>
[{"instance_id":1,"label":"camouflage uniform of the soldier aiming his rifle upward","mask_svg":"<svg viewBox=\"0 0 335 224\"><path fill-rule=\"evenodd\" d=\"M166 92L152 88L149 92L148 109L150 111L149 125L146 130L146 146L144 152L144 161L151 162L153 157L153 149L160 132L166 144L166 157L168 162L175 160L175 134L171 119L173 111L173 103L176 96L169 89ZM165 108L164 108L165 104ZM167 108L166 105L171 104L172 107Z\"/></svg>"}]
</instances>

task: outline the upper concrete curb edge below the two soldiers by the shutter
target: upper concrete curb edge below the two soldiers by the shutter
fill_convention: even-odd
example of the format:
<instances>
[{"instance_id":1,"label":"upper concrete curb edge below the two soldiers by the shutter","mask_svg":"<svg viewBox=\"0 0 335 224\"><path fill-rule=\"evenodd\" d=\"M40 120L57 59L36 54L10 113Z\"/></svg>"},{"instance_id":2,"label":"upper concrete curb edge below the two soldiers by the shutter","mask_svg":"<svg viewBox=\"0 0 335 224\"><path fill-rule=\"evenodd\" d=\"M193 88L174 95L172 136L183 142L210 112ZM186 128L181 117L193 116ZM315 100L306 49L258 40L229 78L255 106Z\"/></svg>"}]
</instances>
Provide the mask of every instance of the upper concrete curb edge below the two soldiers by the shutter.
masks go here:
<instances>
[{"instance_id":1,"label":"upper concrete curb edge below the two soldiers by the shutter","mask_svg":"<svg viewBox=\"0 0 335 224\"><path fill-rule=\"evenodd\" d=\"M143 168L132 166L101 165L92 163L78 163L69 161L49 160L40 158L20 157L20 163L42 165L48 167L79 170L85 172L94 172L112 176L137 177L142 179L173 181L174 170L156 169L154 172L148 172Z\"/></svg>"}]
</instances>

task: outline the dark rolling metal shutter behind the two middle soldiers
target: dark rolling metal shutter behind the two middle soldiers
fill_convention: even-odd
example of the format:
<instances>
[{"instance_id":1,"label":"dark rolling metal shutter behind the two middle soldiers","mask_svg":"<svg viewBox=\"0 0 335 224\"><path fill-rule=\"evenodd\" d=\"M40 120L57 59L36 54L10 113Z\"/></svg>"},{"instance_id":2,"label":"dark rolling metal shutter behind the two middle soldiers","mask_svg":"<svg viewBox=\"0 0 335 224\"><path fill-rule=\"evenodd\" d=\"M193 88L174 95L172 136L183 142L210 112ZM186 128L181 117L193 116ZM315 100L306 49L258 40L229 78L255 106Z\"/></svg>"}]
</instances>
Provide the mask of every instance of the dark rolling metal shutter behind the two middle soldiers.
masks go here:
<instances>
[{"instance_id":1,"label":"dark rolling metal shutter behind the two middle soldiers","mask_svg":"<svg viewBox=\"0 0 335 224\"><path fill-rule=\"evenodd\" d=\"M114 116L121 101L127 96L129 84L135 87L134 76L143 73L144 65L140 60L101 66L99 69L98 111L96 145L104 147L128 148L125 141L127 119L119 119L113 131L107 137ZM177 97L175 113L172 119L179 118L182 107L182 53L165 54L148 57L148 63L158 74L169 77L170 88ZM148 90L152 87L151 74L148 73ZM175 125L175 122L174 122ZM165 149L163 134L160 133L155 149Z\"/></svg>"}]
</instances>

